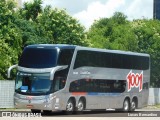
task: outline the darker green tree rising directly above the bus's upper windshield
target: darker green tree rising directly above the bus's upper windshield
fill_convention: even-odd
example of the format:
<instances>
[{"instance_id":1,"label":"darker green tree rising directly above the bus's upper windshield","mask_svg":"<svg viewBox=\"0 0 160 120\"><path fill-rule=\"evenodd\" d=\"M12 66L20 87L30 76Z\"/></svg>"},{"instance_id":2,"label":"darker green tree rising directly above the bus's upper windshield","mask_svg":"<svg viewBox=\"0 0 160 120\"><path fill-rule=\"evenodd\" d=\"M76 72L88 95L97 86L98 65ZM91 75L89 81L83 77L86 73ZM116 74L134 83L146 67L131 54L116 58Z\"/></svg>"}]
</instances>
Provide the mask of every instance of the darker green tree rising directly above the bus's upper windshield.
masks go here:
<instances>
[{"instance_id":1,"label":"darker green tree rising directly above the bus's upper windshield","mask_svg":"<svg viewBox=\"0 0 160 120\"><path fill-rule=\"evenodd\" d=\"M45 34L43 24L37 23L39 14L42 14L42 1L34 0L33 3L24 3L24 8L16 12L15 24L21 30L22 49L29 44L48 43L49 38Z\"/></svg>"}]
</instances>

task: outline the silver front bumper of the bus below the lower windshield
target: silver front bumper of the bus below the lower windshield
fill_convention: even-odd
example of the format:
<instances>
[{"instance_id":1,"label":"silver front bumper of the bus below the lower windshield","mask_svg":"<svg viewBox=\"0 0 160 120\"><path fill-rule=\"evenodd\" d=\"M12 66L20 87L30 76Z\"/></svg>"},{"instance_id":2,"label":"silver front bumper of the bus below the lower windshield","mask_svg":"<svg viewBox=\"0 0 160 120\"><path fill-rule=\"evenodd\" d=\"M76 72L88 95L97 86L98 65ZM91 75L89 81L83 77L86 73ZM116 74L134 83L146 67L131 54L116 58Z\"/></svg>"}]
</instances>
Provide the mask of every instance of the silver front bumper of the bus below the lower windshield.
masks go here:
<instances>
[{"instance_id":1,"label":"silver front bumper of the bus below the lower windshield","mask_svg":"<svg viewBox=\"0 0 160 120\"><path fill-rule=\"evenodd\" d=\"M37 109L37 110L52 110L58 111L61 109L60 103L56 102L56 98L54 97L46 97L46 96L28 96L19 95L14 96L14 105L15 108L20 109Z\"/></svg>"}]
</instances>

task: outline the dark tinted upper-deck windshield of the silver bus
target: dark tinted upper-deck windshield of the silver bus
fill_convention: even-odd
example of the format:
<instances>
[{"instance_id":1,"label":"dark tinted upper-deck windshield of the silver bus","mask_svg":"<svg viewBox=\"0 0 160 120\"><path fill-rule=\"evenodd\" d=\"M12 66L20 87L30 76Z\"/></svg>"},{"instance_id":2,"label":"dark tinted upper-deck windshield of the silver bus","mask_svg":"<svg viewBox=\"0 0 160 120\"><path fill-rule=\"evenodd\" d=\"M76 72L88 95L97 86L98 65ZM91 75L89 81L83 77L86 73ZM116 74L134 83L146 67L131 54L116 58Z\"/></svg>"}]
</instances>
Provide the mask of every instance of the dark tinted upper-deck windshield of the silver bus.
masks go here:
<instances>
[{"instance_id":1,"label":"dark tinted upper-deck windshield of the silver bus","mask_svg":"<svg viewBox=\"0 0 160 120\"><path fill-rule=\"evenodd\" d=\"M57 50L46 48L26 48L19 66L27 68L51 68L57 63Z\"/></svg>"}]
</instances>

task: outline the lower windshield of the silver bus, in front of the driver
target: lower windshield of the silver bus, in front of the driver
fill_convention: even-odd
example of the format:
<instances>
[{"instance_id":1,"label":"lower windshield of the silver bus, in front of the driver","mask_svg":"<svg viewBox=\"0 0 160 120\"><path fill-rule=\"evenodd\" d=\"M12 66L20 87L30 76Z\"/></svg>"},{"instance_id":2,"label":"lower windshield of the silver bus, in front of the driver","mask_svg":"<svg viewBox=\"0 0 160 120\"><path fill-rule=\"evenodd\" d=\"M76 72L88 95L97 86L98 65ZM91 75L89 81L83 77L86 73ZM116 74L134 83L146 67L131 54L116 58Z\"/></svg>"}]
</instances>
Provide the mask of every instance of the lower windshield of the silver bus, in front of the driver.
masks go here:
<instances>
[{"instance_id":1,"label":"lower windshield of the silver bus, in front of the driver","mask_svg":"<svg viewBox=\"0 0 160 120\"><path fill-rule=\"evenodd\" d=\"M48 74L18 73L15 90L24 94L46 94L50 91L51 80Z\"/></svg>"}]
</instances>

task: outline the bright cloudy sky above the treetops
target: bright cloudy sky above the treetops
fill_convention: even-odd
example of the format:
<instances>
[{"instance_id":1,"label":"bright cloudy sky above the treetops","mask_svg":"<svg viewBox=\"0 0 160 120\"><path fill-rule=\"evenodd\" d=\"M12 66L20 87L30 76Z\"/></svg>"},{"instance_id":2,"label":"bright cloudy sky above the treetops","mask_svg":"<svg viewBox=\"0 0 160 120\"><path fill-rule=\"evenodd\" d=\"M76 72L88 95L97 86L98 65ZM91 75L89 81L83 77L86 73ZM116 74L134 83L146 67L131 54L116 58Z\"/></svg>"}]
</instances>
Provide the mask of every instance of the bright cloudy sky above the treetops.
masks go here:
<instances>
[{"instance_id":1,"label":"bright cloudy sky above the treetops","mask_svg":"<svg viewBox=\"0 0 160 120\"><path fill-rule=\"evenodd\" d=\"M22 0L28 2L33 0ZM65 9L88 29L95 20L122 12L128 20L153 18L153 0L42 0L43 5Z\"/></svg>"}]
</instances>

